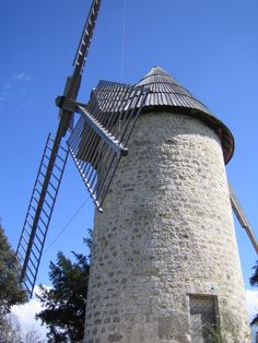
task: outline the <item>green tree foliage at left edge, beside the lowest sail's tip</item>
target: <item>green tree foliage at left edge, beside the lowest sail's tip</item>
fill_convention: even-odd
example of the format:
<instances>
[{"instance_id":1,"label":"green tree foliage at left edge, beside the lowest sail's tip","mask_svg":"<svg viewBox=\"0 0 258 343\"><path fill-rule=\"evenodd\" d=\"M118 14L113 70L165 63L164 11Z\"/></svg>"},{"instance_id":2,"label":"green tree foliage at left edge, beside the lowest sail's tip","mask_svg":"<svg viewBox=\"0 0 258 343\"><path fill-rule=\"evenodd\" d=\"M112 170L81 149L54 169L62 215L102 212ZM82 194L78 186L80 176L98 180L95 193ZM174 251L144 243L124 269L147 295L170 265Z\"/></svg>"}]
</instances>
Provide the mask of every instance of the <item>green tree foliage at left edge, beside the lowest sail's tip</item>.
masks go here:
<instances>
[{"instance_id":1,"label":"green tree foliage at left edge, beside the lowest sail's tip","mask_svg":"<svg viewBox=\"0 0 258 343\"><path fill-rule=\"evenodd\" d=\"M26 301L26 293L19 282L17 260L0 225L0 315L10 312L11 306Z\"/></svg>"}]
</instances>

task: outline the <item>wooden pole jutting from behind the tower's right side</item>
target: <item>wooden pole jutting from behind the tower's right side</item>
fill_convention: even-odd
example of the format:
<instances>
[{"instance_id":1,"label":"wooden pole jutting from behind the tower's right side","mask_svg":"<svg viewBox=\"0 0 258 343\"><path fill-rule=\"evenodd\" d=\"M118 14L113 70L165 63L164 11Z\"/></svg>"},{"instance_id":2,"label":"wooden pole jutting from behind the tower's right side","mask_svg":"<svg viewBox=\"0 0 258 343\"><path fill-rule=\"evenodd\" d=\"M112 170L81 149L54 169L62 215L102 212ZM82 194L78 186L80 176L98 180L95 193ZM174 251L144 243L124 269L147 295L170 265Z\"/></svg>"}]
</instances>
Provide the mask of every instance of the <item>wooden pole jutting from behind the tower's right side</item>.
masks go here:
<instances>
[{"instance_id":1,"label":"wooden pole jutting from behind the tower's right side","mask_svg":"<svg viewBox=\"0 0 258 343\"><path fill-rule=\"evenodd\" d=\"M245 228L245 230L246 230L246 233L247 233L247 235L248 235L248 237L249 237L249 239L250 239L250 241L251 241L256 252L258 253L258 241L256 239L256 236L253 233L253 229L251 229L251 227L250 227L250 225L249 225L249 223L248 223L248 221L247 221L247 218L245 216L245 213L244 213L244 211L243 211L243 209L241 206L241 203L239 203L238 199L236 198L236 194L233 191L233 188L232 188L231 185L228 185L228 189L230 189L230 197L231 197L232 209L233 209L233 211L234 211L234 213L235 213L235 215L236 215L241 226L243 228Z\"/></svg>"}]
</instances>

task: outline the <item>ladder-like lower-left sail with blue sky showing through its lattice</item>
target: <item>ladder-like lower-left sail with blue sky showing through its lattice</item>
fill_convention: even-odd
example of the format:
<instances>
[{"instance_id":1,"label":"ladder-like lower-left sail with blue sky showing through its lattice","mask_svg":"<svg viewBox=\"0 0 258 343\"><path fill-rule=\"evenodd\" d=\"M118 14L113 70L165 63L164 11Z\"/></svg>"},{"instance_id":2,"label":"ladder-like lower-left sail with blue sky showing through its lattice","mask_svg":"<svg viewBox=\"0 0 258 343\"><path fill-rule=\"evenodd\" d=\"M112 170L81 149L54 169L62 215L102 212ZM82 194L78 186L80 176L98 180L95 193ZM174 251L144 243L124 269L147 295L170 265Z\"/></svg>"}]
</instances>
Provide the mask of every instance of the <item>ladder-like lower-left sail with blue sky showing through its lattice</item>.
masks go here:
<instances>
[{"instance_id":1,"label":"ladder-like lower-left sail with blue sky showing through its lattice","mask_svg":"<svg viewBox=\"0 0 258 343\"><path fill-rule=\"evenodd\" d=\"M59 145L54 162L52 144L49 134L16 250L21 263L21 281L24 281L31 296L68 157L68 150Z\"/></svg>"}]
</instances>

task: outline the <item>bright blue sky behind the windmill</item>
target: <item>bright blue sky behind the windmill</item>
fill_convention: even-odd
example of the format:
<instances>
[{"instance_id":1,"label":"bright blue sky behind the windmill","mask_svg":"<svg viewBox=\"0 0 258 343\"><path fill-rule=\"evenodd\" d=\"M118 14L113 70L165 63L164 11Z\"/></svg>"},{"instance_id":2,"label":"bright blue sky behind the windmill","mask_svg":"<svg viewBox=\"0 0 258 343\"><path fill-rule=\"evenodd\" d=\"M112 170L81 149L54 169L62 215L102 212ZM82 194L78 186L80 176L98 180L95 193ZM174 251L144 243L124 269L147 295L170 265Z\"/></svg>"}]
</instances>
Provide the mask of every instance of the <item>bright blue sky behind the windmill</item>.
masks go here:
<instances>
[{"instance_id":1,"label":"bright blue sky behind the windmill","mask_svg":"<svg viewBox=\"0 0 258 343\"><path fill-rule=\"evenodd\" d=\"M15 248L49 131L87 16L90 0L0 3L0 216ZM103 0L80 100L99 79L134 83L159 64L232 130L228 178L258 235L258 2ZM49 227L38 282L49 284L57 251L85 251L93 205L70 159ZM236 223L248 285L257 256ZM57 236L59 237L57 238Z\"/></svg>"}]
</instances>

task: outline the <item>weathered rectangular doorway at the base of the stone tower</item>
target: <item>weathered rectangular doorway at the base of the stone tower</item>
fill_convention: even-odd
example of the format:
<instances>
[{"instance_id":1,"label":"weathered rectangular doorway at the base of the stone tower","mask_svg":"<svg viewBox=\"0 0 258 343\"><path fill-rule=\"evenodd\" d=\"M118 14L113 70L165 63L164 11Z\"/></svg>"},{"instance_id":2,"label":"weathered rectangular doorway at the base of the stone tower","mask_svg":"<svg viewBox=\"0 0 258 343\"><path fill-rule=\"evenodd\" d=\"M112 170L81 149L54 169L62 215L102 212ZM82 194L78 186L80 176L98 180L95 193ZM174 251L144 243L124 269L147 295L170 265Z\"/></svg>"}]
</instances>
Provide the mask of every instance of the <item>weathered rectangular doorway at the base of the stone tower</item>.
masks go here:
<instances>
[{"instance_id":1,"label":"weathered rectangular doorway at the base of the stone tower","mask_svg":"<svg viewBox=\"0 0 258 343\"><path fill-rule=\"evenodd\" d=\"M190 321L191 342L211 343L211 332L218 331L216 322L216 297L204 295L190 295Z\"/></svg>"}]
</instances>

